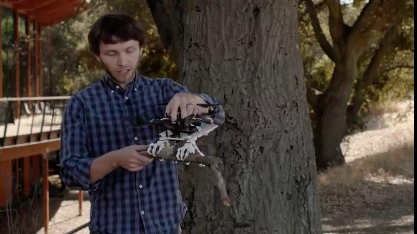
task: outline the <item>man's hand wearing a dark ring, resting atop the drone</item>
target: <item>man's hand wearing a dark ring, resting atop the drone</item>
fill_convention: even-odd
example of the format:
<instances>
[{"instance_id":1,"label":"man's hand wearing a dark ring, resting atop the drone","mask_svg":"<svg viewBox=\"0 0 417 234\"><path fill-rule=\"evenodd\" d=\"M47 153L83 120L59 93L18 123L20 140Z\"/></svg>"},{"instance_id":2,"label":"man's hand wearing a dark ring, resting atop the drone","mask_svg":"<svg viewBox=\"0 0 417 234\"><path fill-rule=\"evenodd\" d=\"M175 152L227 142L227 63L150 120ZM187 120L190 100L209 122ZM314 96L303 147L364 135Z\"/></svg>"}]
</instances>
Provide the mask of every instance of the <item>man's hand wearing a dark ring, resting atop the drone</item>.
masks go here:
<instances>
[{"instance_id":1,"label":"man's hand wearing a dark ring, resting atop the drone","mask_svg":"<svg viewBox=\"0 0 417 234\"><path fill-rule=\"evenodd\" d=\"M177 121L178 108L180 108L181 118L191 114L196 116L208 113L208 108L197 104L207 104L207 102L192 94L178 93L168 102L165 112L171 117L172 122Z\"/></svg>"}]
</instances>

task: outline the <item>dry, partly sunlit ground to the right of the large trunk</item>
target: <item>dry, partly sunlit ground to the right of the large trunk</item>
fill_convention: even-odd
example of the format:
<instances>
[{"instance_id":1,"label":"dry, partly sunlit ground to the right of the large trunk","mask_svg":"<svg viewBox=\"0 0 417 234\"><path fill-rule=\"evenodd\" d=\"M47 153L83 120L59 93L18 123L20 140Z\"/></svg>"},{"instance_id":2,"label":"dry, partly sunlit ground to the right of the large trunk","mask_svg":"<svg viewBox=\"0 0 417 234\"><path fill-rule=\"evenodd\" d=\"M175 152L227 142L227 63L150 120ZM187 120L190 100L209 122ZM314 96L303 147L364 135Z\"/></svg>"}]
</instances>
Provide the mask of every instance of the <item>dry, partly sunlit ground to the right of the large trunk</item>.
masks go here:
<instances>
[{"instance_id":1,"label":"dry, partly sunlit ground to the right of the large trunk","mask_svg":"<svg viewBox=\"0 0 417 234\"><path fill-rule=\"evenodd\" d=\"M346 137L347 165L319 175L323 233L414 234L414 100L393 105Z\"/></svg>"}]
</instances>

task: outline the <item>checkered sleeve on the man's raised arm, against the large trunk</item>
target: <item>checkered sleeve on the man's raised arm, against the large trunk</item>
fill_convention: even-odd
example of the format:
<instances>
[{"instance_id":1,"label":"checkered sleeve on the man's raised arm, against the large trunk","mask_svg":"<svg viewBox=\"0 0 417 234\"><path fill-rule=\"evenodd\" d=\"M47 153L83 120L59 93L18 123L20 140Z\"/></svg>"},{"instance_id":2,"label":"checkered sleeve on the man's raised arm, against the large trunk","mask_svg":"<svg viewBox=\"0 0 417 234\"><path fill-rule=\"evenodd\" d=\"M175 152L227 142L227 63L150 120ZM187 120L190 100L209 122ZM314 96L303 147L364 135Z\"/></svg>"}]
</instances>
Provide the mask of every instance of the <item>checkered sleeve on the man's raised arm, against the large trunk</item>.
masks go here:
<instances>
[{"instance_id":1,"label":"checkered sleeve on the man's raised arm, against the large trunk","mask_svg":"<svg viewBox=\"0 0 417 234\"><path fill-rule=\"evenodd\" d=\"M223 106L219 104L219 101L217 100L217 98L214 98L210 95L207 94L195 94L195 93L191 93L187 87L166 78L165 82L164 82L164 88L165 88L165 92L167 94L167 101L169 101L172 97L174 97L175 94L177 93L187 93L187 94L192 94L195 96L198 96L200 98L202 98L204 101L206 101L208 104L210 105L218 105L217 106L217 113L215 115L215 117L213 118L213 122L216 125L220 125L223 124L225 122L225 111L223 109Z\"/></svg>"}]
</instances>

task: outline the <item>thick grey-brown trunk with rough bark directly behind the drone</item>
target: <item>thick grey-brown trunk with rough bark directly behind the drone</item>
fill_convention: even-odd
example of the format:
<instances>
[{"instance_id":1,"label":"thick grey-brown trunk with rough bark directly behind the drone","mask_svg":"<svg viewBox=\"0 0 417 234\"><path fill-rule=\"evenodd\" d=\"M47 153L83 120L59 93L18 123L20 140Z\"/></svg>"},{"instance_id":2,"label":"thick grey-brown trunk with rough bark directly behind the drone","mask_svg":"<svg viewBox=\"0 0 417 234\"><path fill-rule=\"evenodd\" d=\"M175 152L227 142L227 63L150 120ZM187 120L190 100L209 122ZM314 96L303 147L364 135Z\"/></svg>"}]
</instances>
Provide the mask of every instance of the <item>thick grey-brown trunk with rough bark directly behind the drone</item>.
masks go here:
<instances>
[{"instance_id":1,"label":"thick grey-brown trunk with rough bark directly behind the drone","mask_svg":"<svg viewBox=\"0 0 417 234\"><path fill-rule=\"evenodd\" d=\"M297 3L164 3L182 83L218 98L227 116L202 150L225 162L231 207L219 202L207 168L185 167L184 233L321 233Z\"/></svg>"}]
</instances>

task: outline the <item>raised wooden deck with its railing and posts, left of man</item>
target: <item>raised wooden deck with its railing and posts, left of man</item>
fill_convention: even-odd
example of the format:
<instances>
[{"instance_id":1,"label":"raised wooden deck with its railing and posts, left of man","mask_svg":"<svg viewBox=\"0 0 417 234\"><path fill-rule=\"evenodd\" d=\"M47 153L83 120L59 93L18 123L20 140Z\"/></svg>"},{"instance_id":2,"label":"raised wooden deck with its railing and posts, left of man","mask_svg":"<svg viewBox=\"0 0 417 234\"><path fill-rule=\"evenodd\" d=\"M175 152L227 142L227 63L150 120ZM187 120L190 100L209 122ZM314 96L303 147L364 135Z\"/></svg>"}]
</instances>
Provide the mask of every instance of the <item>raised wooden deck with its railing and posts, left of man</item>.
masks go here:
<instances>
[{"instance_id":1,"label":"raised wooden deck with its railing and posts, left of man","mask_svg":"<svg viewBox=\"0 0 417 234\"><path fill-rule=\"evenodd\" d=\"M10 206L21 193L31 195L31 184L40 181L42 168L45 234L49 221L48 155L61 147L62 118L69 98L0 98L0 207ZM19 182L21 171L23 185ZM80 215L82 201L80 191Z\"/></svg>"}]
</instances>

